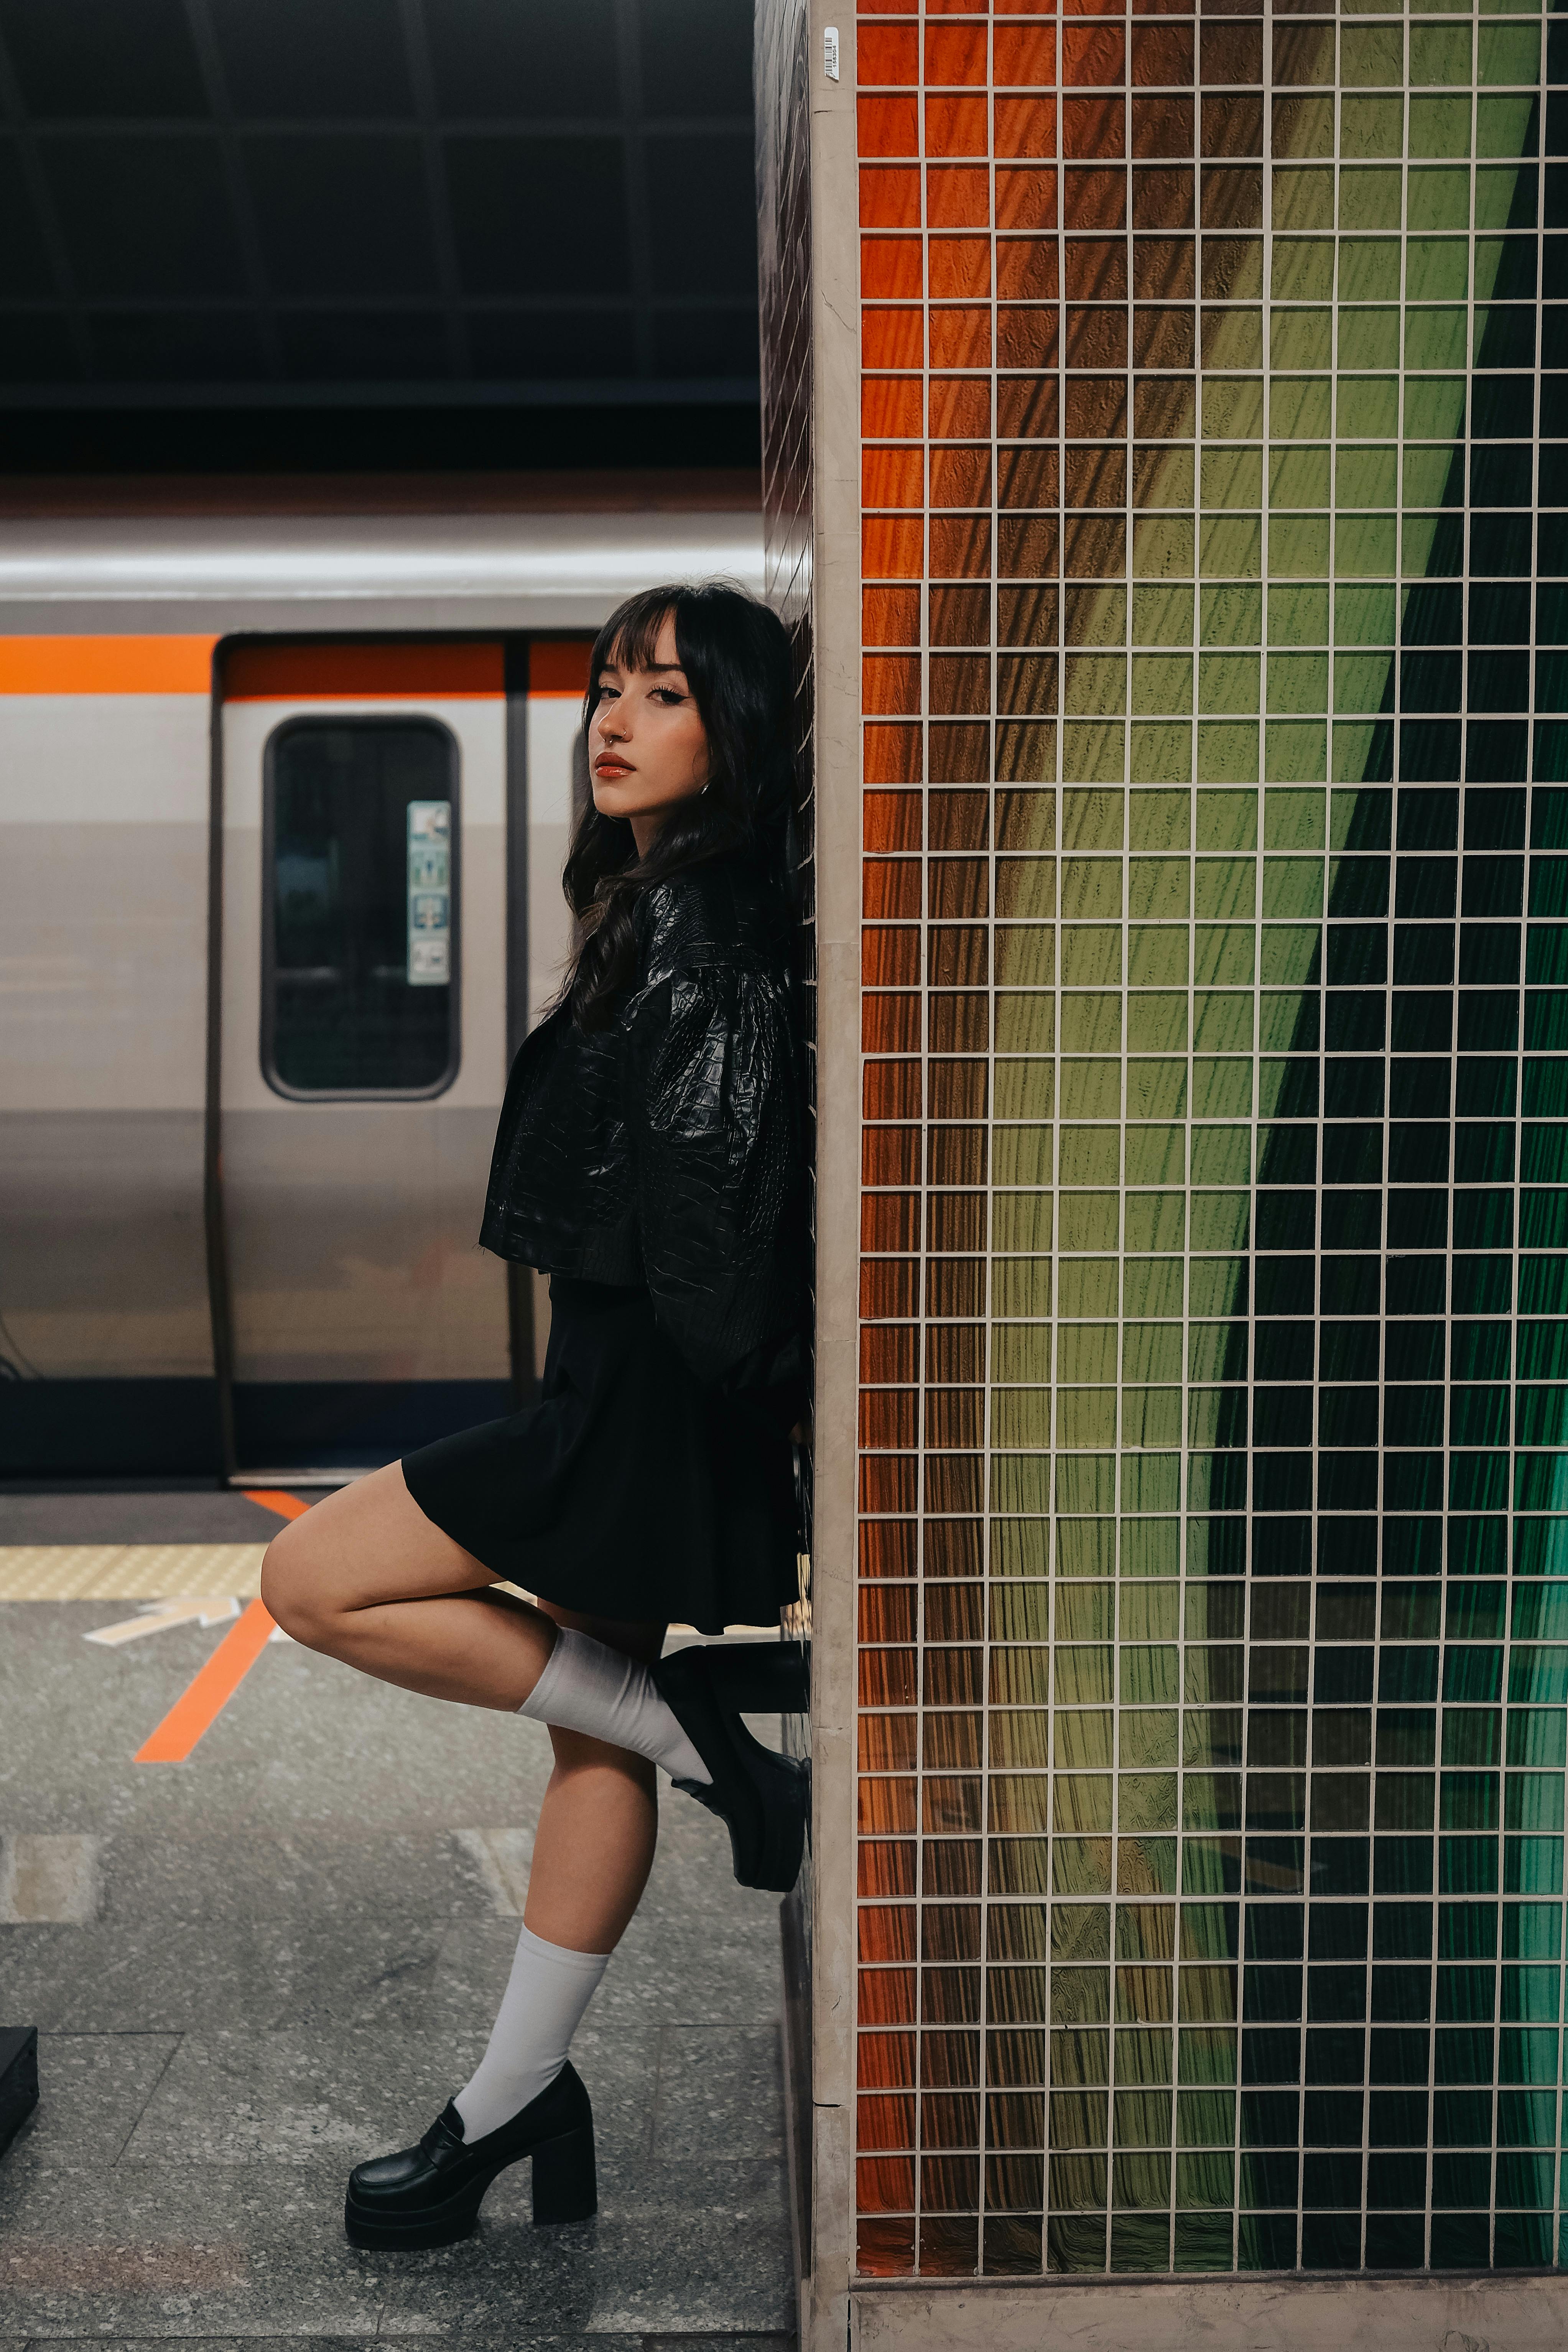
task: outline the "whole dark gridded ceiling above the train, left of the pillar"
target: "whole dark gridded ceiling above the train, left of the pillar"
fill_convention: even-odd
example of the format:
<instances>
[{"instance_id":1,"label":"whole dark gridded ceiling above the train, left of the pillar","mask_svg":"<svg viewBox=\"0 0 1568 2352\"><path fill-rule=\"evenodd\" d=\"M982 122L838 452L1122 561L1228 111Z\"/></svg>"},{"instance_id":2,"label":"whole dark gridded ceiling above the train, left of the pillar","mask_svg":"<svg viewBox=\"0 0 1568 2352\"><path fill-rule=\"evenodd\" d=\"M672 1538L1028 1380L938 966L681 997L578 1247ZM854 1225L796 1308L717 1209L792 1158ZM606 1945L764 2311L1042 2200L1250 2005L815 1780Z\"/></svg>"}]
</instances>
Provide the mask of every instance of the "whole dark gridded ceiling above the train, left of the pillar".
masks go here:
<instances>
[{"instance_id":1,"label":"whole dark gridded ceiling above the train, left of the pillar","mask_svg":"<svg viewBox=\"0 0 1568 2352\"><path fill-rule=\"evenodd\" d=\"M745 400L750 35L750 0L0 0L0 407Z\"/></svg>"}]
</instances>

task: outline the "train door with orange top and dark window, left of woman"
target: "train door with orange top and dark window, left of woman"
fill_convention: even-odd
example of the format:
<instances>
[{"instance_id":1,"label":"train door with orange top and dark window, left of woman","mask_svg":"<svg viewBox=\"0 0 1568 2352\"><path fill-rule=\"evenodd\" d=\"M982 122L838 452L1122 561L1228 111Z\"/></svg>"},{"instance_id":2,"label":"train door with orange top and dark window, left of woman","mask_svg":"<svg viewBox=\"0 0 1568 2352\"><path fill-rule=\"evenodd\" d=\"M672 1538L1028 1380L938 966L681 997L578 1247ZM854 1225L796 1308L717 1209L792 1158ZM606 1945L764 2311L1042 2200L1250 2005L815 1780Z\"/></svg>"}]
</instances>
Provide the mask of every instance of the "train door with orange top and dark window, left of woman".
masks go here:
<instances>
[{"instance_id":1,"label":"train door with orange top and dark window, left of woman","mask_svg":"<svg viewBox=\"0 0 1568 2352\"><path fill-rule=\"evenodd\" d=\"M390 1461L512 1397L503 647L240 644L221 724L233 1449Z\"/></svg>"}]
</instances>

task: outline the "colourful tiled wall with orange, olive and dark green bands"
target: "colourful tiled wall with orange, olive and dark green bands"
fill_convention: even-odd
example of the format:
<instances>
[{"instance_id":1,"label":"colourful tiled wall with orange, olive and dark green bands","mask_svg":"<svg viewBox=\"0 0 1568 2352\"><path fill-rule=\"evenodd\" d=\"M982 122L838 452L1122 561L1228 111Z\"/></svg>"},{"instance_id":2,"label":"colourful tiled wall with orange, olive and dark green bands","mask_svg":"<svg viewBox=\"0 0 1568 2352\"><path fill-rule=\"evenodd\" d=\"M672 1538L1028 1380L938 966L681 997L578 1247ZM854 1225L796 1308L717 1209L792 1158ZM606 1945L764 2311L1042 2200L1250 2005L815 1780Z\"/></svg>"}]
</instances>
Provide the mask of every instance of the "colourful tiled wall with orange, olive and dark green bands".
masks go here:
<instances>
[{"instance_id":1,"label":"colourful tiled wall with orange, olive and dark green bands","mask_svg":"<svg viewBox=\"0 0 1568 2352\"><path fill-rule=\"evenodd\" d=\"M1556 2260L1542 33L858 21L863 2274Z\"/></svg>"}]
</instances>

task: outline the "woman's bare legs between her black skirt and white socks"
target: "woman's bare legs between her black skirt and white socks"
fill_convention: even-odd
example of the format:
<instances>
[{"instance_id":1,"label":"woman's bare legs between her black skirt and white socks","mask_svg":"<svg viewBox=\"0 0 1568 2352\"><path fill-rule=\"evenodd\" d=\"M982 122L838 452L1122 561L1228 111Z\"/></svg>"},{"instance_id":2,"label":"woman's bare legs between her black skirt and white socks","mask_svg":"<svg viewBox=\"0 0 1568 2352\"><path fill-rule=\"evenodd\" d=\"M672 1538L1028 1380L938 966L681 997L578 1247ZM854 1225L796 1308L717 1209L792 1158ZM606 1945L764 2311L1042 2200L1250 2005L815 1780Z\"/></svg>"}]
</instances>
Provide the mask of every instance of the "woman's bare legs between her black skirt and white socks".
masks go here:
<instances>
[{"instance_id":1,"label":"woman's bare legs between her black skirt and white socks","mask_svg":"<svg viewBox=\"0 0 1568 2352\"><path fill-rule=\"evenodd\" d=\"M536 1609L425 1519L400 1463L294 1519L268 1548L261 1597L303 1642L428 1698L515 1715L555 1625L651 1663L663 1625ZM654 1766L581 1731L550 1731L555 1771L538 1813L524 1924L574 1952L614 1952L637 1910L658 1837Z\"/></svg>"}]
</instances>

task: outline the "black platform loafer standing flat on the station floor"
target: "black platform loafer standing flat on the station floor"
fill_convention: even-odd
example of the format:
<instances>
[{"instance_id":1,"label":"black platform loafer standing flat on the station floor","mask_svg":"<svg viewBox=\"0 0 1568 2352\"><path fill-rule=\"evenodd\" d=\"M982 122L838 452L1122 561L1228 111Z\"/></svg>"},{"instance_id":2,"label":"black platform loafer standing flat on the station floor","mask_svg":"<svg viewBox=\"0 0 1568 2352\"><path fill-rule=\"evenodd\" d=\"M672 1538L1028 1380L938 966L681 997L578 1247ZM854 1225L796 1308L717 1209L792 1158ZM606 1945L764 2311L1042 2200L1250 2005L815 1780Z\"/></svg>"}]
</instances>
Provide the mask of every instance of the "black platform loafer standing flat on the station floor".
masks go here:
<instances>
[{"instance_id":1,"label":"black platform loafer standing flat on the station floor","mask_svg":"<svg viewBox=\"0 0 1568 2352\"><path fill-rule=\"evenodd\" d=\"M592 2107L576 2067L531 2098L510 2124L463 2140L463 2117L447 2103L418 2147L355 2164L343 2227L350 2246L451 2246L480 2218L484 2190L508 2164L534 2157L534 2223L590 2220L597 2211Z\"/></svg>"}]
</instances>

